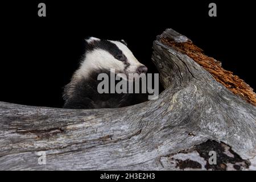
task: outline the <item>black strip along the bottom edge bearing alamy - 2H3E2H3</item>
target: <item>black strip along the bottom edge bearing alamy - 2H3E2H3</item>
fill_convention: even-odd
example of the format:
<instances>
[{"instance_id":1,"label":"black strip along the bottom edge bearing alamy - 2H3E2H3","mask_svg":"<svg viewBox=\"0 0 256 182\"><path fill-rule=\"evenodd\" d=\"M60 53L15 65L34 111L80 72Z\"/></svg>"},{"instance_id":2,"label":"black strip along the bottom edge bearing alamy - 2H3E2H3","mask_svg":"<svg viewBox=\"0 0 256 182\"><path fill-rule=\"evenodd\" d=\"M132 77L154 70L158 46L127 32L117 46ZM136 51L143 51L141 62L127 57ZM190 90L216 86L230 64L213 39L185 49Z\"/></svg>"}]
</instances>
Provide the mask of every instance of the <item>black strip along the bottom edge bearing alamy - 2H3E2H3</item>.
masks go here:
<instances>
[{"instance_id":1,"label":"black strip along the bottom edge bearing alamy - 2H3E2H3","mask_svg":"<svg viewBox=\"0 0 256 182\"><path fill-rule=\"evenodd\" d=\"M0 171L1 176L8 177L10 180L26 179L26 181L35 181L40 176L40 180L68 180L80 181L116 181L115 179L100 179L104 173L112 175L125 175L125 173L155 173L155 179L118 179L118 181L212 181L243 179L245 181L253 179L255 171Z\"/></svg>"}]
</instances>

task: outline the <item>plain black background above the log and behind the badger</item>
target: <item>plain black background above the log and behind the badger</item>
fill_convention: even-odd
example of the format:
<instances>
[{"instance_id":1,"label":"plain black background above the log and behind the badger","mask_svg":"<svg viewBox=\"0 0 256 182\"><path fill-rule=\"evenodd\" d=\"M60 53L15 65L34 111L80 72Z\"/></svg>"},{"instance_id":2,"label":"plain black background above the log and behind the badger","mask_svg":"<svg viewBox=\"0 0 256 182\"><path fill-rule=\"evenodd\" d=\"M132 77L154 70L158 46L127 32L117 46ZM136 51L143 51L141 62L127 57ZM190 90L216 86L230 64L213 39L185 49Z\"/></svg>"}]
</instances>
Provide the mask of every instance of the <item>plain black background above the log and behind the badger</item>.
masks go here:
<instances>
[{"instance_id":1,"label":"plain black background above the log and behind the badger","mask_svg":"<svg viewBox=\"0 0 256 182\"><path fill-rule=\"evenodd\" d=\"M46 3L47 17L38 16ZM210 2L217 17L208 16ZM190 38L256 88L252 1L9 1L1 2L0 101L61 107L63 86L79 65L88 36L125 39L151 63L152 42L166 28Z\"/></svg>"}]
</instances>

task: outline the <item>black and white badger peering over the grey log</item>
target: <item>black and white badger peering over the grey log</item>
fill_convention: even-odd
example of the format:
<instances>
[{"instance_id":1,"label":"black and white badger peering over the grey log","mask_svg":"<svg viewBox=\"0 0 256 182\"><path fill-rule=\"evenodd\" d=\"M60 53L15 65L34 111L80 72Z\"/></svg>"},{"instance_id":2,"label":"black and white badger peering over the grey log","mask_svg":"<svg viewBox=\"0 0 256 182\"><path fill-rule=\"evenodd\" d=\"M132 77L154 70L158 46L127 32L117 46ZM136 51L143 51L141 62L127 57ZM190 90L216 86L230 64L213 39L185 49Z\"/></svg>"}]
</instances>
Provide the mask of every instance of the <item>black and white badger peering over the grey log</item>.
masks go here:
<instances>
[{"instance_id":1,"label":"black and white badger peering over the grey log","mask_svg":"<svg viewBox=\"0 0 256 182\"><path fill-rule=\"evenodd\" d=\"M147 67L140 63L124 40L104 40L94 37L85 39L85 53L79 69L64 87L64 108L93 109L115 108L138 104L147 100L146 94L98 93L100 73L110 74L146 73ZM131 81L131 80L127 80Z\"/></svg>"}]
</instances>

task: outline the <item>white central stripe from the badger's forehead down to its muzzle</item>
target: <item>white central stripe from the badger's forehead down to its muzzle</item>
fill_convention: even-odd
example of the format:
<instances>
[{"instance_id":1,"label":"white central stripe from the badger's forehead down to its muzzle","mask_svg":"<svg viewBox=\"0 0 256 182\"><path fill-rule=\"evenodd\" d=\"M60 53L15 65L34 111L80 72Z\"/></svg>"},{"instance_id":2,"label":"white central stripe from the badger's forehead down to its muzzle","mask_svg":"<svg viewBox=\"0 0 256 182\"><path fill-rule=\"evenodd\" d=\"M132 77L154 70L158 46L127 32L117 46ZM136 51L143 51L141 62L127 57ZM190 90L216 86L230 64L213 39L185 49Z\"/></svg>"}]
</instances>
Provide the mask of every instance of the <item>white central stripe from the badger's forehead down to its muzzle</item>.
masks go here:
<instances>
[{"instance_id":1,"label":"white central stripe from the badger's forehead down to its muzzle","mask_svg":"<svg viewBox=\"0 0 256 182\"><path fill-rule=\"evenodd\" d=\"M136 57L133 55L133 52L130 51L130 49L123 43L118 41L109 40L110 42L114 43L126 56L127 63L129 63L129 67L126 69L129 73L136 73L137 68L143 66L142 63L139 63L139 61L136 59Z\"/></svg>"}]
</instances>

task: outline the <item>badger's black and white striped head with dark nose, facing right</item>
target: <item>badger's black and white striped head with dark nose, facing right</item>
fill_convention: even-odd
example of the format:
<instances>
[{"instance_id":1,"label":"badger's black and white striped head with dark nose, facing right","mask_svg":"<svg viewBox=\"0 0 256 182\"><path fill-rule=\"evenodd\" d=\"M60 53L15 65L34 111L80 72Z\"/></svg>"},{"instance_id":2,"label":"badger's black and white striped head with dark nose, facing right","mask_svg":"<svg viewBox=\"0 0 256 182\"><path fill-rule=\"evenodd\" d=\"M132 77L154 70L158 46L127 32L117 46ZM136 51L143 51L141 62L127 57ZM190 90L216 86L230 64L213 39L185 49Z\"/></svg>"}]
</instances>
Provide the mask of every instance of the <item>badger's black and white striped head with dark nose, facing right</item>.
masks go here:
<instances>
[{"instance_id":1,"label":"badger's black and white striped head with dark nose, facing right","mask_svg":"<svg viewBox=\"0 0 256 182\"><path fill-rule=\"evenodd\" d=\"M115 69L116 74L124 73L127 77L129 73L147 72L147 67L139 63L123 40L101 40L92 37L86 42L88 45L85 59L79 69L80 74L85 77L90 71L98 69Z\"/></svg>"}]
</instances>

